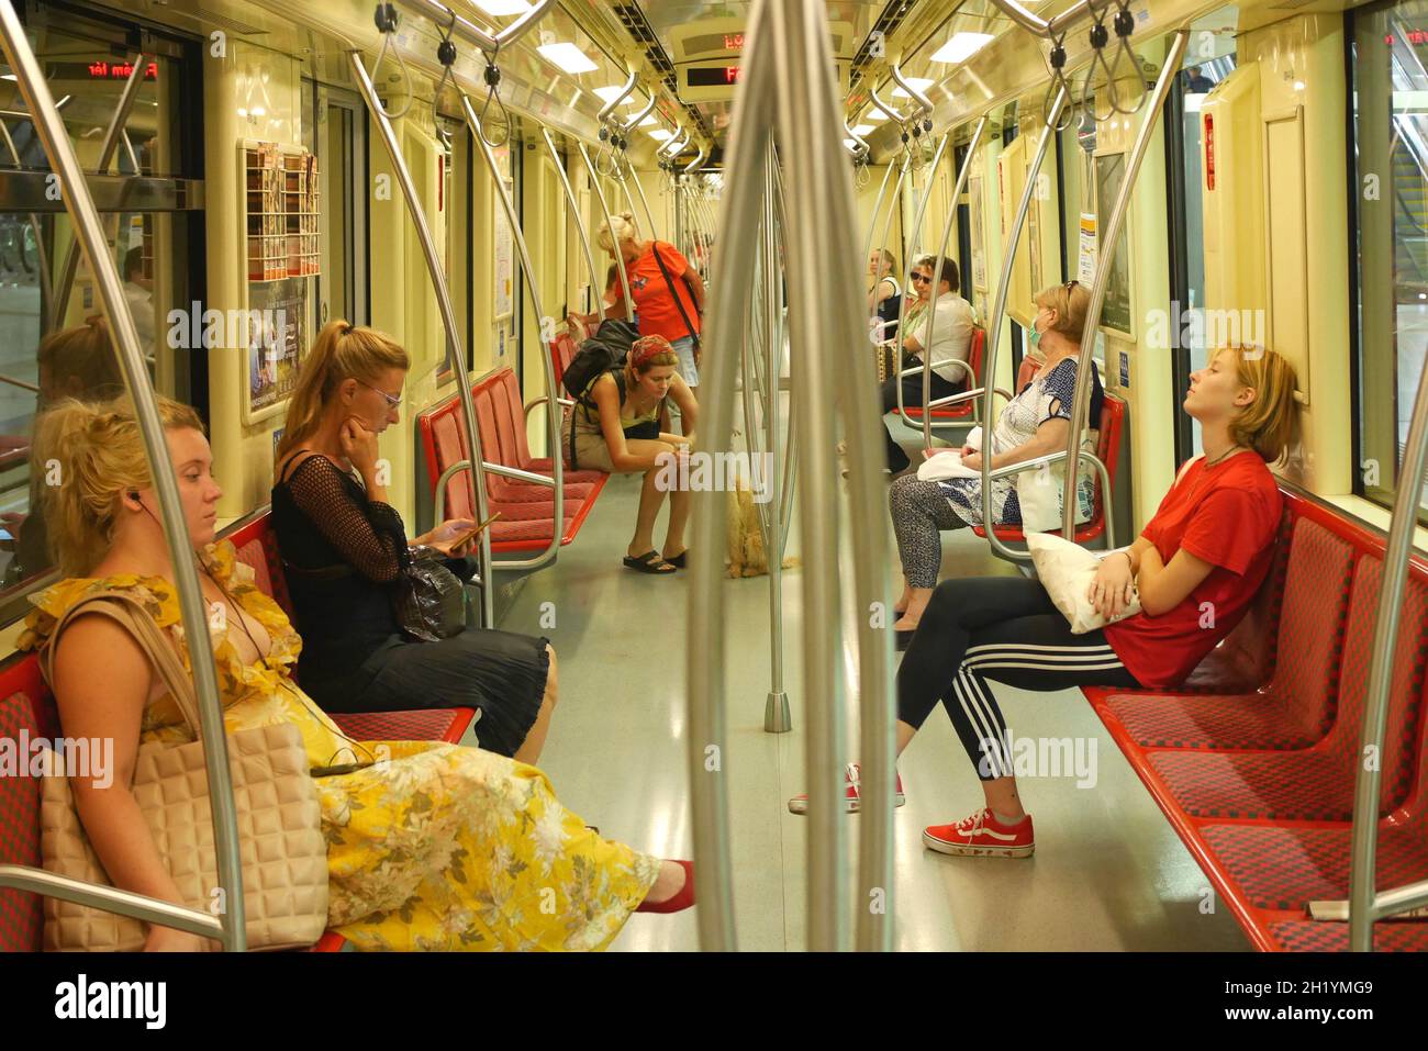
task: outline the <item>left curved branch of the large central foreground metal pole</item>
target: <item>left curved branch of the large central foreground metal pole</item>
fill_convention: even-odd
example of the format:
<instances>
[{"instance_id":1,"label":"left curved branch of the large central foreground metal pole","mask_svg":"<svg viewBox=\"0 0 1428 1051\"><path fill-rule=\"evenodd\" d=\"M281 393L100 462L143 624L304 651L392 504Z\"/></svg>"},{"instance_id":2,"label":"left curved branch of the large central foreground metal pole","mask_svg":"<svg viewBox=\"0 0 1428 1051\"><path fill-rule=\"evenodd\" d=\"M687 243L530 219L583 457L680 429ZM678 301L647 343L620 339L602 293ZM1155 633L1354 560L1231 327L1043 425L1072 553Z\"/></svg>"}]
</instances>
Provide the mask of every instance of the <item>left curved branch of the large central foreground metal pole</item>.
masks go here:
<instances>
[{"instance_id":1,"label":"left curved branch of the large central foreground metal pole","mask_svg":"<svg viewBox=\"0 0 1428 1051\"><path fill-rule=\"evenodd\" d=\"M758 0L755 14L761 11ZM758 19L751 19L751 27ZM773 71L763 31L747 37L744 76L735 89L728 153L727 193L721 201L721 244L714 264L705 316L704 341L711 366L700 377L700 400L708 407L701 448L720 448L731 438L734 378L740 356L734 353L750 310L753 258L758 243L760 183L773 123ZM747 174L744 174L747 173ZM703 406L701 406L703 407ZM690 610L685 668L688 675L690 810L694 827L694 877L698 897L700 945L704 950L737 948L733 901L733 865L728 850L728 783L724 720L724 587L723 557L725 508L713 493L693 494L690 545ZM831 800L828 800L831 804Z\"/></svg>"}]
</instances>

